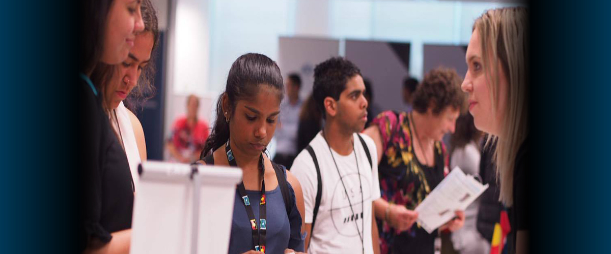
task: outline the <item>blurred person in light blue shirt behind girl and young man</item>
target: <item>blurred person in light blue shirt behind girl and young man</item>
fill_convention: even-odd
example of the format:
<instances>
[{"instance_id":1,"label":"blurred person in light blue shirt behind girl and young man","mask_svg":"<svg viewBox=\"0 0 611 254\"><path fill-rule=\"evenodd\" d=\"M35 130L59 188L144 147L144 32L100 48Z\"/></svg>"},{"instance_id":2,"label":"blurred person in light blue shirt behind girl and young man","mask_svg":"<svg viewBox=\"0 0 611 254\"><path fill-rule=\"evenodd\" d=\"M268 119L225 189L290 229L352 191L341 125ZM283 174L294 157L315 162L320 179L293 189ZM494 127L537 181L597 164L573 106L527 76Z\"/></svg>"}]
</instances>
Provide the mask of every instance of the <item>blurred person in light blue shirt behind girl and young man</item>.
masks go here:
<instances>
[{"instance_id":1,"label":"blurred person in light blue shirt behind girl and young man","mask_svg":"<svg viewBox=\"0 0 611 254\"><path fill-rule=\"evenodd\" d=\"M299 74L288 74L285 85L287 88L287 100L280 104L280 126L276 130L276 155L274 162L291 168L293 160L297 156L297 129L299 125L299 110L302 101L299 99L301 89L301 77Z\"/></svg>"}]
</instances>

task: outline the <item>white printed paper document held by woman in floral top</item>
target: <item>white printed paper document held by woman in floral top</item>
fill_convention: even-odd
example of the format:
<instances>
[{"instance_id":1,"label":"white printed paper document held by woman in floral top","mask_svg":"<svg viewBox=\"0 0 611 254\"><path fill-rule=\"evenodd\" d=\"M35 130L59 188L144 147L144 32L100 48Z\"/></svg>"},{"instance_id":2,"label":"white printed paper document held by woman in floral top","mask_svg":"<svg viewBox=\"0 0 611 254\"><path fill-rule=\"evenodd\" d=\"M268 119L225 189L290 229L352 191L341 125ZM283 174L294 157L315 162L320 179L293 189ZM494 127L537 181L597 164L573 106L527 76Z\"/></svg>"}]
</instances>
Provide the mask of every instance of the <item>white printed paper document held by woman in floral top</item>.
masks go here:
<instances>
[{"instance_id":1,"label":"white printed paper document held by woman in floral top","mask_svg":"<svg viewBox=\"0 0 611 254\"><path fill-rule=\"evenodd\" d=\"M455 210L467 209L486 189L487 184L482 185L472 175L466 175L456 167L416 207L416 221L428 233L433 233L456 216Z\"/></svg>"}]
</instances>

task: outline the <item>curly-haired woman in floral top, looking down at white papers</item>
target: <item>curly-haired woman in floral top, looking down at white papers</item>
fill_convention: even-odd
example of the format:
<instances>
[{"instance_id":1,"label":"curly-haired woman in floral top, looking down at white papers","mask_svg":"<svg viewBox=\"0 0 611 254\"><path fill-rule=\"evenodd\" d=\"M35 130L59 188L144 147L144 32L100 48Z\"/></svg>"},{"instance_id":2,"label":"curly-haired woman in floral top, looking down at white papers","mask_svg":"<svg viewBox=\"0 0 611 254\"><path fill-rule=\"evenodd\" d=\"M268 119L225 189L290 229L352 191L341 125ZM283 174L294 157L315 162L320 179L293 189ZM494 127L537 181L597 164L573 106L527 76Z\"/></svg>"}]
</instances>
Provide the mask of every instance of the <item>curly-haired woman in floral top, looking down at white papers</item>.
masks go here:
<instances>
[{"instance_id":1,"label":"curly-haired woman in floral top, looking down at white papers","mask_svg":"<svg viewBox=\"0 0 611 254\"><path fill-rule=\"evenodd\" d=\"M410 113L384 111L365 129L376 143L382 197L374 202L382 253L434 253L432 234L414 224L413 211L448 173L448 156L441 139L454 132L464 108L462 79L454 69L433 69L414 93ZM456 211L439 230L454 231L464 224Z\"/></svg>"}]
</instances>

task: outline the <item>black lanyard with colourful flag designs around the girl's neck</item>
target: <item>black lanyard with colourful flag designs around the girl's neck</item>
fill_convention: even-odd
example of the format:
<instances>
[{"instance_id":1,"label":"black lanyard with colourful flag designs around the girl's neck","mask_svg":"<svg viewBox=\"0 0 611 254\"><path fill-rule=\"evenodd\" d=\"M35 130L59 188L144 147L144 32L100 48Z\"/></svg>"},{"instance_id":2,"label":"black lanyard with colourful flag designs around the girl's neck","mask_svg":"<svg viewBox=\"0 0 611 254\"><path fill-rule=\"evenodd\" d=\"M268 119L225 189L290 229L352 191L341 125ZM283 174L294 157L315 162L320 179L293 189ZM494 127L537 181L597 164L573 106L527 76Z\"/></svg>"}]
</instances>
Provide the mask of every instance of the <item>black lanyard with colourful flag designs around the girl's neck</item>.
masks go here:
<instances>
[{"instance_id":1,"label":"black lanyard with colourful flag designs around the girl's neck","mask_svg":"<svg viewBox=\"0 0 611 254\"><path fill-rule=\"evenodd\" d=\"M227 161L229 161L229 165L233 167L237 167L238 164L233 157L233 152L231 147L229 146L229 141L225 145L225 153L227 153ZM265 209L265 166L263 165L263 155L260 157L259 161L259 171L261 171L261 200L259 202L259 227L257 228L257 219L255 219L255 214L252 211L251 201L246 194L246 188L244 188L244 182L240 182L238 185L238 193L242 197L244 201L244 208L246 208L246 213L248 214L248 219L251 223L252 228L252 243L254 244L255 250L257 252L265 253L265 233L267 231L267 222L266 222L266 209Z\"/></svg>"}]
</instances>

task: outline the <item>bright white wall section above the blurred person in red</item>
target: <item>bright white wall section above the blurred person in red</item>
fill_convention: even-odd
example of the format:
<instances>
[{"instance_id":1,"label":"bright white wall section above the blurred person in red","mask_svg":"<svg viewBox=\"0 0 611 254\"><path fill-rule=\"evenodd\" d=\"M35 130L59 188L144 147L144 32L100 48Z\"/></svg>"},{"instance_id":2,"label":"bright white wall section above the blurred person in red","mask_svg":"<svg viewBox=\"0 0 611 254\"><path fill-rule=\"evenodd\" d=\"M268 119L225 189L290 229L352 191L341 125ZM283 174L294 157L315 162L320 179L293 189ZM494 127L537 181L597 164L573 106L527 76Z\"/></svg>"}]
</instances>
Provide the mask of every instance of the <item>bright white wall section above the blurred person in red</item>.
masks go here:
<instances>
[{"instance_id":1,"label":"bright white wall section above the blurred person in red","mask_svg":"<svg viewBox=\"0 0 611 254\"><path fill-rule=\"evenodd\" d=\"M168 1L168 0L156 0ZM166 108L164 137L172 122L185 114L185 98L196 94L201 102L210 101L210 3L208 0L171 0L167 9ZM172 15L174 12L174 15ZM162 12L163 13L163 12ZM169 15L168 15L169 14ZM160 21L160 24L162 22ZM199 116L209 119L207 104Z\"/></svg>"}]
</instances>

